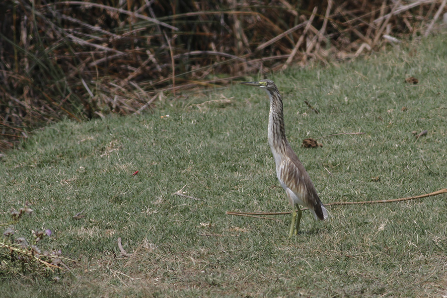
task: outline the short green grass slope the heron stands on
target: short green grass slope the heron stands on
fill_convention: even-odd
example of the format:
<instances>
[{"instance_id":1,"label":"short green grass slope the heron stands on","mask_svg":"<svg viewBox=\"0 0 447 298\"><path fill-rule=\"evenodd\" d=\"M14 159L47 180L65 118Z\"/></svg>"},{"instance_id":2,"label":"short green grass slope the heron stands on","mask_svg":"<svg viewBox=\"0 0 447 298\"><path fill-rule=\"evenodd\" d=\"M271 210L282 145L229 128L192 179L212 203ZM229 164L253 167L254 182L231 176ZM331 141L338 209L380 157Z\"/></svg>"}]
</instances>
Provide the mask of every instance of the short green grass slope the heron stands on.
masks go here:
<instances>
[{"instance_id":1,"label":"short green grass slope the heron stands on","mask_svg":"<svg viewBox=\"0 0 447 298\"><path fill-rule=\"evenodd\" d=\"M447 187L446 38L269 77L324 203ZM3 262L1 297L446 297L446 195L332 206L325 222L304 211L291 239L290 215L225 214L291 210L267 144L268 109L265 92L234 82L167 98L150 115L62 122L7 152L1 222L28 201L34 212L9 225L13 237L49 228L41 248L76 262L48 274ZM343 132L365 134L328 136ZM300 147L319 137L322 148Z\"/></svg>"}]
</instances>

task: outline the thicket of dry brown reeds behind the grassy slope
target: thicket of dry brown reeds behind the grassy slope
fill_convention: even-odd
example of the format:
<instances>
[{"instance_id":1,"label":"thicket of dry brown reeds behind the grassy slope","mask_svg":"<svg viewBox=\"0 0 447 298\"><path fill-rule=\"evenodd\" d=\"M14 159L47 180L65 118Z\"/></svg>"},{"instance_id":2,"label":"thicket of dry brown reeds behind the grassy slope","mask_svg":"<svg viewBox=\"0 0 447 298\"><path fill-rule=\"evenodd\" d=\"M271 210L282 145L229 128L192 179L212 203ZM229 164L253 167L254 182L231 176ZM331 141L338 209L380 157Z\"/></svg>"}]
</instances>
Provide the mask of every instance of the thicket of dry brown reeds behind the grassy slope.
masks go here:
<instances>
[{"instance_id":1,"label":"thicket of dry brown reeds behind the grassy slope","mask_svg":"<svg viewBox=\"0 0 447 298\"><path fill-rule=\"evenodd\" d=\"M13 137L0 140L0 150L23 138L14 128L31 131L64 115L80 121L107 110L141 112L159 92L223 85L294 63L350 59L378 49L382 37L426 36L447 6L446 0L328 0L318 7L323 16L297 0L269 9L256 0L126 3L5 2L6 11L16 13L5 14L4 27L12 30L0 33L0 136Z\"/></svg>"}]
</instances>

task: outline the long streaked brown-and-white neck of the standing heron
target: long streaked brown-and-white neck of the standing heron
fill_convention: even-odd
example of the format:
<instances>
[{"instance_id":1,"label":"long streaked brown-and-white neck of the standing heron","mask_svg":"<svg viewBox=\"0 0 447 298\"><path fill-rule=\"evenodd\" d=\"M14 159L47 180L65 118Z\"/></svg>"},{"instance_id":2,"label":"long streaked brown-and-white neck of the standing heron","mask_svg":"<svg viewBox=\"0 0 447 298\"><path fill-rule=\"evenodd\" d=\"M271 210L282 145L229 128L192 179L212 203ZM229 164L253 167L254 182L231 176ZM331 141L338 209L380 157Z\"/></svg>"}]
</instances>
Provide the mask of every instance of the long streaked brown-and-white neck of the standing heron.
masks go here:
<instances>
[{"instance_id":1,"label":"long streaked brown-and-white neck of the standing heron","mask_svg":"<svg viewBox=\"0 0 447 298\"><path fill-rule=\"evenodd\" d=\"M268 92L270 97L269 114L269 145L273 154L286 152L288 142L286 139L286 130L284 128L283 100L281 95L273 95ZM279 94L279 93L278 93Z\"/></svg>"}]
</instances>

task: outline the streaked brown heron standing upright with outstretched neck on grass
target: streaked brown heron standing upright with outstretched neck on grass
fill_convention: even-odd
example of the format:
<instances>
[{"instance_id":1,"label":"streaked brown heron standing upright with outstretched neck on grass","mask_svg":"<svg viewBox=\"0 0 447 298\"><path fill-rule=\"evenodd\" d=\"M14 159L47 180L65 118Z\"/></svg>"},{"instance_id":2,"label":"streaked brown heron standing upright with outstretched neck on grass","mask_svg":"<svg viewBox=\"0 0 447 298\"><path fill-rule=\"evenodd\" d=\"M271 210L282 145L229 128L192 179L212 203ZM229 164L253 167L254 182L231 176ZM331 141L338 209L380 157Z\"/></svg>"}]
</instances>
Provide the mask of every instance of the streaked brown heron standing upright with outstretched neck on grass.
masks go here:
<instances>
[{"instance_id":1,"label":"streaked brown heron standing upright with outstretched neck on grass","mask_svg":"<svg viewBox=\"0 0 447 298\"><path fill-rule=\"evenodd\" d=\"M269 95L269 145L275 159L276 175L293 208L289 233L289 237L292 237L294 233L298 233L299 223L301 222L299 205L309 208L315 219L320 221L327 219L327 210L321 203L309 174L307 174L297 154L287 142L284 128L283 100L278 87L271 79L263 79L258 82L242 82L241 84L260 87ZM295 211L296 207L298 207L298 212Z\"/></svg>"}]
</instances>

